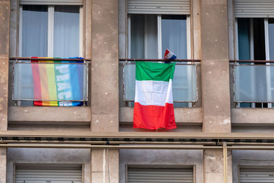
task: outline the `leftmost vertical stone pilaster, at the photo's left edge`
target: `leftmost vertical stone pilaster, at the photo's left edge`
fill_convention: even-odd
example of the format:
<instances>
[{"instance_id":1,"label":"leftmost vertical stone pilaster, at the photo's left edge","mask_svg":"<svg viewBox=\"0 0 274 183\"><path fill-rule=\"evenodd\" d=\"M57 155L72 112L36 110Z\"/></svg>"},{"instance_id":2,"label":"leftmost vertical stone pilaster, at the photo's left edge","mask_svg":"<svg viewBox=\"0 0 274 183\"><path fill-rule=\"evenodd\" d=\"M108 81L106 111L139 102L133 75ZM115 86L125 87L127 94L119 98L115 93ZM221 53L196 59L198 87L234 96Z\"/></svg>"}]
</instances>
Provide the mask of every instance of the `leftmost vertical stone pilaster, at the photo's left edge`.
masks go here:
<instances>
[{"instance_id":1,"label":"leftmost vertical stone pilaster, at the photo's left edge","mask_svg":"<svg viewBox=\"0 0 274 183\"><path fill-rule=\"evenodd\" d=\"M8 129L8 65L10 36L10 1L0 1L0 130ZM0 148L0 183L6 178L6 148Z\"/></svg>"}]
</instances>

